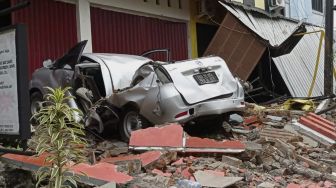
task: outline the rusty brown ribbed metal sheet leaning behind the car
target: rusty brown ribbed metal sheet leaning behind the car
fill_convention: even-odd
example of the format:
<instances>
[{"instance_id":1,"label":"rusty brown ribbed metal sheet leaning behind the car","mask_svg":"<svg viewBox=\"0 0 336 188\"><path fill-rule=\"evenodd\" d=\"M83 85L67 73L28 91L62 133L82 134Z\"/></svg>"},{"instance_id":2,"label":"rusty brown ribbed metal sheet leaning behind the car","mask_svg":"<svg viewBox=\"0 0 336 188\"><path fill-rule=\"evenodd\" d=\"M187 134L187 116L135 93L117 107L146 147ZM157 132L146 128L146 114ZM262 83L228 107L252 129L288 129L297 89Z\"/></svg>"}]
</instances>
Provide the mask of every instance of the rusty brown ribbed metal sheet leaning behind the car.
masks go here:
<instances>
[{"instance_id":1,"label":"rusty brown ribbed metal sheet leaning behind the car","mask_svg":"<svg viewBox=\"0 0 336 188\"><path fill-rule=\"evenodd\" d=\"M237 18L226 14L205 55L222 57L231 72L247 80L266 50Z\"/></svg>"}]
</instances>

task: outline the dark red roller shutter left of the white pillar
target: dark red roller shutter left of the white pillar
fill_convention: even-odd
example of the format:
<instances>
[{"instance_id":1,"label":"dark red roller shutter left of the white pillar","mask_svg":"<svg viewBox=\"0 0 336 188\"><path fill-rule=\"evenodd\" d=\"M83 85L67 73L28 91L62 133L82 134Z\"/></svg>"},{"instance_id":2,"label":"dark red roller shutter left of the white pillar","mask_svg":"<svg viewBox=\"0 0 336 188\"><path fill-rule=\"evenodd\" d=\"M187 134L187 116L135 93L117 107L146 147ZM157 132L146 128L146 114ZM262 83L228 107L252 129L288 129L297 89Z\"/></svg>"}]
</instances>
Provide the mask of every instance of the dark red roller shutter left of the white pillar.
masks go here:
<instances>
[{"instance_id":1,"label":"dark red roller shutter left of the white pillar","mask_svg":"<svg viewBox=\"0 0 336 188\"><path fill-rule=\"evenodd\" d=\"M11 0L12 5L20 0ZM29 72L45 59L56 59L77 43L76 6L54 0L30 0L12 13L12 23L28 26Z\"/></svg>"}]
</instances>

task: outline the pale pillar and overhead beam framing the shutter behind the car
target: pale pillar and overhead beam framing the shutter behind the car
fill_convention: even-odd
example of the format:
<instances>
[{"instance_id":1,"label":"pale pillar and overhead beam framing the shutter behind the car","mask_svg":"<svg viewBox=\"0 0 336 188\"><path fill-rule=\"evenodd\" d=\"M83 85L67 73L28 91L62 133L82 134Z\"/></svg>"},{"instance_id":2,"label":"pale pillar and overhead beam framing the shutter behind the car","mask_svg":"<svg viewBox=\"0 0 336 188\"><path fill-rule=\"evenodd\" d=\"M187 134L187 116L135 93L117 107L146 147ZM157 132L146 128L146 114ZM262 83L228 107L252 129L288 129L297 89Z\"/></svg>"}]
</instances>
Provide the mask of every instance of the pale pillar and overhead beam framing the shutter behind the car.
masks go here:
<instances>
[{"instance_id":1,"label":"pale pillar and overhead beam framing the shutter behind the car","mask_svg":"<svg viewBox=\"0 0 336 188\"><path fill-rule=\"evenodd\" d=\"M63 0L64 1L64 0ZM91 11L90 7L107 11L126 13L142 17L157 18L163 21L190 23L188 0L65 0L77 4L78 40L88 40L85 52L92 52ZM195 51L192 45L191 32L193 24L188 24L187 37L188 57ZM181 33L184 35L184 33Z\"/></svg>"}]
</instances>

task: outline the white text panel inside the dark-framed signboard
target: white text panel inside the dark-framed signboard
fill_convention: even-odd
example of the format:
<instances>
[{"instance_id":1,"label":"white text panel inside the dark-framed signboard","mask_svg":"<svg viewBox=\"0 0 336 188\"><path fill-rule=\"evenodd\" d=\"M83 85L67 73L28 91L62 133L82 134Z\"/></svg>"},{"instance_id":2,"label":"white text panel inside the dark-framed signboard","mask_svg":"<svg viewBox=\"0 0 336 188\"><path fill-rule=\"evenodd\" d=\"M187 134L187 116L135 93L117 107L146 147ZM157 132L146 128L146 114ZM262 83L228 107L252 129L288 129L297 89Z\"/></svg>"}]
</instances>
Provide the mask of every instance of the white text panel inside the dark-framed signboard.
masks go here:
<instances>
[{"instance_id":1,"label":"white text panel inside the dark-framed signboard","mask_svg":"<svg viewBox=\"0 0 336 188\"><path fill-rule=\"evenodd\" d=\"M15 29L11 29L0 33L0 134L19 135L16 63Z\"/></svg>"}]
</instances>

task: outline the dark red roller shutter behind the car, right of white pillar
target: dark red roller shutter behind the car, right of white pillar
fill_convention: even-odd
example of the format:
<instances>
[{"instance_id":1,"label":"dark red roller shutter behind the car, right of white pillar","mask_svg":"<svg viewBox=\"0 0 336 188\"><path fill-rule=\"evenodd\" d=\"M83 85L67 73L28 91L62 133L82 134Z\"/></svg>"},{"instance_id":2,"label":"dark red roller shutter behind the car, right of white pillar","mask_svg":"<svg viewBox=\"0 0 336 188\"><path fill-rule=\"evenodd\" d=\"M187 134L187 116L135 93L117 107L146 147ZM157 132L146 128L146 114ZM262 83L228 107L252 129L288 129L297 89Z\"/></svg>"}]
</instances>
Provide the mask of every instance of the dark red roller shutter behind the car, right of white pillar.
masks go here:
<instances>
[{"instance_id":1,"label":"dark red roller shutter behind the car, right of white pillar","mask_svg":"<svg viewBox=\"0 0 336 188\"><path fill-rule=\"evenodd\" d=\"M94 52L141 54L169 48L173 60L188 58L186 23L91 7L91 27Z\"/></svg>"}]
</instances>

